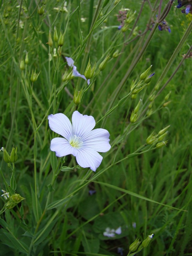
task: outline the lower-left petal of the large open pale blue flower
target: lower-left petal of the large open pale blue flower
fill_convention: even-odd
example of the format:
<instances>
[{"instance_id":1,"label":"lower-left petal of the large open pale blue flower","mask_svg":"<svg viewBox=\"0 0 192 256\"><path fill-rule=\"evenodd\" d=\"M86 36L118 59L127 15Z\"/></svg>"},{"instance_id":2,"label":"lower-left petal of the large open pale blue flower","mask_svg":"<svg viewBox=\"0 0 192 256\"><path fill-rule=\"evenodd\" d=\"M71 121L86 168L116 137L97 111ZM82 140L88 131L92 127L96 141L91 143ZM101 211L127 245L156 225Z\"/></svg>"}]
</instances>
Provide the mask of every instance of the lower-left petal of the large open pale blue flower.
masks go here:
<instances>
[{"instance_id":1,"label":"lower-left petal of the large open pale blue flower","mask_svg":"<svg viewBox=\"0 0 192 256\"><path fill-rule=\"evenodd\" d=\"M74 148L64 138L54 138L51 140L52 151L56 152L56 156L62 157L74 153Z\"/></svg>"}]
</instances>

